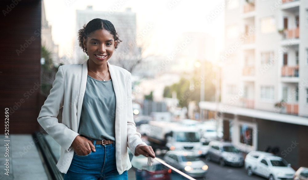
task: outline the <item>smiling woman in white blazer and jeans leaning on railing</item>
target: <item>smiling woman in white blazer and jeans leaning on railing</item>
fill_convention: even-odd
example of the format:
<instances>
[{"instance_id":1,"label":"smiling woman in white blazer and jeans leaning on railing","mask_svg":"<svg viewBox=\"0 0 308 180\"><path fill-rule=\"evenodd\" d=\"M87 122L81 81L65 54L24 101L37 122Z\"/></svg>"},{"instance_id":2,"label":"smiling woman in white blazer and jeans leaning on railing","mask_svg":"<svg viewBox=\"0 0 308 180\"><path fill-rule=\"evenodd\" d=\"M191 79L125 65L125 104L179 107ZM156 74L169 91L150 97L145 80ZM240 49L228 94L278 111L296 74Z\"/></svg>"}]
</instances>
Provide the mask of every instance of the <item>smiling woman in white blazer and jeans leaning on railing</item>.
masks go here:
<instances>
[{"instance_id":1,"label":"smiling woman in white blazer and jeans leaning on railing","mask_svg":"<svg viewBox=\"0 0 308 180\"><path fill-rule=\"evenodd\" d=\"M110 21L98 18L78 39L89 59L59 67L39 124L61 145L57 167L64 179L127 179L127 147L136 156L155 154L136 132L131 74L107 62L121 40Z\"/></svg>"}]
</instances>

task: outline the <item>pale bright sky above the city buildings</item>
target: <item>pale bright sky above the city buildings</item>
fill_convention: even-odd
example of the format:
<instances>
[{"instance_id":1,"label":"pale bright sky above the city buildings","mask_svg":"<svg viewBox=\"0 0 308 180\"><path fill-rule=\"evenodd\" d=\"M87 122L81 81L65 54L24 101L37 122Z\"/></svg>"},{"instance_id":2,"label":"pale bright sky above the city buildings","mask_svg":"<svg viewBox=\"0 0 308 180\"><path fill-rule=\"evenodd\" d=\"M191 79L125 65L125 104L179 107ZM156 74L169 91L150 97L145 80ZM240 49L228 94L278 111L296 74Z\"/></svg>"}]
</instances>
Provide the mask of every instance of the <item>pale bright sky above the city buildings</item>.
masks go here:
<instances>
[{"instance_id":1,"label":"pale bright sky above the city buildings","mask_svg":"<svg viewBox=\"0 0 308 180\"><path fill-rule=\"evenodd\" d=\"M46 18L52 25L52 37L59 45L60 57L73 49L76 33L76 10L118 12L130 7L136 13L137 34L153 26L146 38L144 53L165 56L170 53L179 36L185 32L203 32L215 38L217 59L224 48L224 0L44 0ZM215 13L214 13L215 12ZM81 27L80 27L81 28Z\"/></svg>"}]
</instances>

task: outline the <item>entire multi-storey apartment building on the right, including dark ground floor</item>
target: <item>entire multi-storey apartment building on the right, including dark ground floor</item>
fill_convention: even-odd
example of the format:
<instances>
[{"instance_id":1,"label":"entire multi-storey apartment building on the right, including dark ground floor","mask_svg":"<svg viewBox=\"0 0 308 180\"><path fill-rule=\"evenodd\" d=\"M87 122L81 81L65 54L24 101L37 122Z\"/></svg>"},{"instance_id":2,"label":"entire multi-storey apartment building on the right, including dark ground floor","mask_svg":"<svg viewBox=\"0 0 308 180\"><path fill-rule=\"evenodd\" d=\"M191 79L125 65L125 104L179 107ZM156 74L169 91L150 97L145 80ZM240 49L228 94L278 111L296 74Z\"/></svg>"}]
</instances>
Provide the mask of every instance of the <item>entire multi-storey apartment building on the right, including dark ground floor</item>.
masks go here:
<instances>
[{"instance_id":1,"label":"entire multi-storey apartment building on the right, including dark ground floor","mask_svg":"<svg viewBox=\"0 0 308 180\"><path fill-rule=\"evenodd\" d=\"M307 166L308 1L225 3L221 103L199 107L243 151L276 148L294 167ZM294 140L300 145L285 157Z\"/></svg>"}]
</instances>

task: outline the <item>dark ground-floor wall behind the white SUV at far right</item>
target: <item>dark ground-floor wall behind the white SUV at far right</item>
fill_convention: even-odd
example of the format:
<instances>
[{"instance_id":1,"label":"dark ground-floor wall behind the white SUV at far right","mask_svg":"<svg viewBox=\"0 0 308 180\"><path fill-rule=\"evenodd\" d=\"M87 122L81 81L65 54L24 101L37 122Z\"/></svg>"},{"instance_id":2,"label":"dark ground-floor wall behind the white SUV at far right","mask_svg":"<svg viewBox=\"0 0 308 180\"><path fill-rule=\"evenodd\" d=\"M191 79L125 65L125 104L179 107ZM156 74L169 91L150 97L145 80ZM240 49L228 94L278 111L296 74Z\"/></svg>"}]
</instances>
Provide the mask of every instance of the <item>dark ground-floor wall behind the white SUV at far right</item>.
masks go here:
<instances>
[{"instance_id":1,"label":"dark ground-floor wall behind the white SUV at far right","mask_svg":"<svg viewBox=\"0 0 308 180\"><path fill-rule=\"evenodd\" d=\"M278 155L295 169L308 166L308 127L257 119L258 150L267 146L279 147Z\"/></svg>"}]
</instances>

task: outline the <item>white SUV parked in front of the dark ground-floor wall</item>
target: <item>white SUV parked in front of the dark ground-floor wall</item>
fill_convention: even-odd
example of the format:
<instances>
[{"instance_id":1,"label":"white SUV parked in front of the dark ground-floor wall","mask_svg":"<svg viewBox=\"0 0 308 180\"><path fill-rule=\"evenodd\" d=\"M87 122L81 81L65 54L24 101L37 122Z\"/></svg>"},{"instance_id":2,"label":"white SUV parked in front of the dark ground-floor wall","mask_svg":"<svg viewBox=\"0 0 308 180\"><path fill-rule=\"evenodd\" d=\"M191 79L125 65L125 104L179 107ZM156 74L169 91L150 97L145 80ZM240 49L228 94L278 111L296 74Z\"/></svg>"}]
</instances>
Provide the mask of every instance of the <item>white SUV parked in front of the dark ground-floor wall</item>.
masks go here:
<instances>
[{"instance_id":1,"label":"white SUV parked in front of the dark ground-floor wall","mask_svg":"<svg viewBox=\"0 0 308 180\"><path fill-rule=\"evenodd\" d=\"M251 151L245 158L247 175L257 174L269 180L292 180L295 170L285 159L264 151Z\"/></svg>"}]
</instances>

